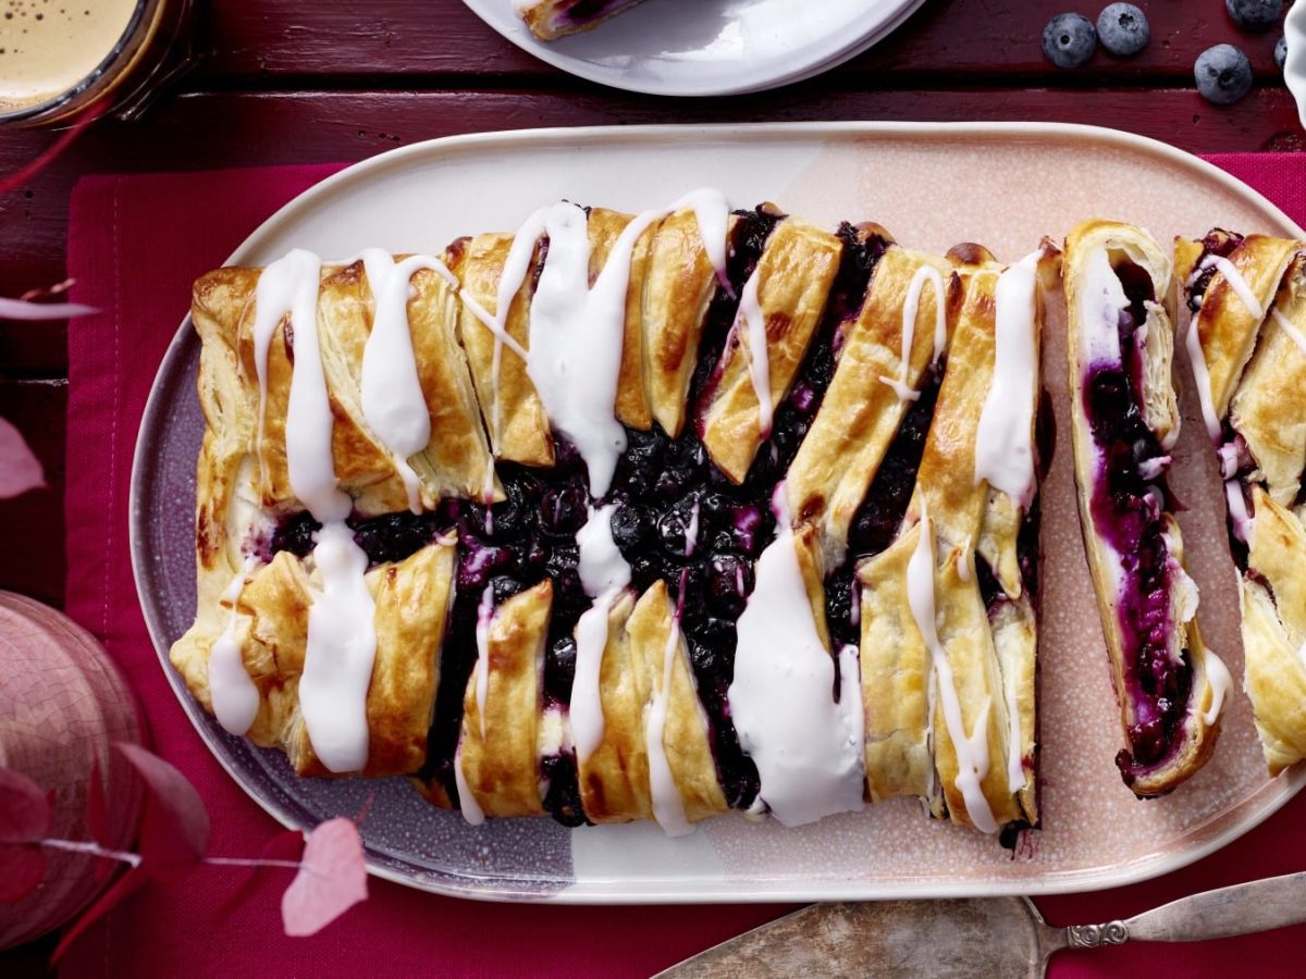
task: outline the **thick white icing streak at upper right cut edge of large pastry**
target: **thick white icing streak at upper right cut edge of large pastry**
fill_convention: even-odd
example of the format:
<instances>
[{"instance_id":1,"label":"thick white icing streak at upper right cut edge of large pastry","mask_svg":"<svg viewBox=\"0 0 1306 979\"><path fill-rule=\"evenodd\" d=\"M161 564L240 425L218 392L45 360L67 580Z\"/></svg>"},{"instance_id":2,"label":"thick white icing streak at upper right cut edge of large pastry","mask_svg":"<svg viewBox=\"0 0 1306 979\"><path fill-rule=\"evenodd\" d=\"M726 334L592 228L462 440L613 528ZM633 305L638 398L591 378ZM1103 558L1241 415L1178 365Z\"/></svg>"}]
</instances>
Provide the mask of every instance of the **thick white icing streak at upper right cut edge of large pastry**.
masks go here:
<instances>
[{"instance_id":1,"label":"thick white icing streak at upper right cut edge of large pastry","mask_svg":"<svg viewBox=\"0 0 1306 979\"><path fill-rule=\"evenodd\" d=\"M1036 302L1041 252L1003 270L994 290L993 384L976 433L976 483L989 480L1021 506L1034 495L1033 416L1038 377Z\"/></svg>"}]
</instances>

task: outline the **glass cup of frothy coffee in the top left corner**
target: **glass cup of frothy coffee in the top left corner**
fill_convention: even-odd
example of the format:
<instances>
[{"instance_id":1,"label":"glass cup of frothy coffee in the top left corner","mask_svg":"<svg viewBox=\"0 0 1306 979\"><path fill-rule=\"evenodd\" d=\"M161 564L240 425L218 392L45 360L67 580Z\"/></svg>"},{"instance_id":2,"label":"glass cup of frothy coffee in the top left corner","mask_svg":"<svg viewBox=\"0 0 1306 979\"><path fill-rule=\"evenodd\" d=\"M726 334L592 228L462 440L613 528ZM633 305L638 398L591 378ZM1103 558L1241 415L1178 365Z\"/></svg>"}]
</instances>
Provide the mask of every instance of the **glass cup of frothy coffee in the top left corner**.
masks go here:
<instances>
[{"instance_id":1,"label":"glass cup of frothy coffee in the top left corner","mask_svg":"<svg viewBox=\"0 0 1306 979\"><path fill-rule=\"evenodd\" d=\"M0 124L129 116L189 60L191 0L0 0Z\"/></svg>"}]
</instances>

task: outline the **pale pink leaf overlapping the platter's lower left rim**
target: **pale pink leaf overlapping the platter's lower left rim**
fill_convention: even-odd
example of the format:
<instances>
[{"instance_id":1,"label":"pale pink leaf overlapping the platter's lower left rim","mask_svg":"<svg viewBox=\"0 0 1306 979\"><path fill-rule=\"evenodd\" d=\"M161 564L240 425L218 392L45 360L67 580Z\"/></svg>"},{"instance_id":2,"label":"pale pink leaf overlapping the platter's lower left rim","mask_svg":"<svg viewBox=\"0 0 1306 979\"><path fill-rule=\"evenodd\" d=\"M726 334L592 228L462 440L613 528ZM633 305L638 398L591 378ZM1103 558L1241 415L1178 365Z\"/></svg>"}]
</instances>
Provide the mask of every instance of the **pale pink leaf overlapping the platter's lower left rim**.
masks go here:
<instances>
[{"instance_id":1,"label":"pale pink leaf overlapping the platter's lower left rim","mask_svg":"<svg viewBox=\"0 0 1306 979\"><path fill-rule=\"evenodd\" d=\"M316 935L367 899L363 839L351 820L337 816L308 835L304 860L281 898L286 935Z\"/></svg>"}]
</instances>

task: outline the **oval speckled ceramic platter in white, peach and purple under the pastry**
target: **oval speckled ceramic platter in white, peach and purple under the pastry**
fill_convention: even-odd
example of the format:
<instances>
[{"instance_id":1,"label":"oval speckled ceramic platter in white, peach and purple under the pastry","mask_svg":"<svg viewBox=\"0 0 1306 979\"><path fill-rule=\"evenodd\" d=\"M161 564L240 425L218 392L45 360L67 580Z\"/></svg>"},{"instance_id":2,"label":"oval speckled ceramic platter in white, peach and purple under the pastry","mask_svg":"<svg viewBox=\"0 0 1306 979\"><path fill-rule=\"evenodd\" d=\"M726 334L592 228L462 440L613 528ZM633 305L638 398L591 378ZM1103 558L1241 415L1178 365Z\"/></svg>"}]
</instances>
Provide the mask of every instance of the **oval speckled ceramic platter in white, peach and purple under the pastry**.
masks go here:
<instances>
[{"instance_id":1,"label":"oval speckled ceramic platter in white, peach and purple under the pastry","mask_svg":"<svg viewBox=\"0 0 1306 979\"><path fill-rule=\"evenodd\" d=\"M569 198L639 211L696 187L735 206L772 200L833 225L878 221L904 245L943 252L978 241L1015 260L1079 219L1143 225L1161 240L1212 225L1302 236L1279 209L1216 168L1124 133L1033 124L802 124L724 128L554 129L469 136L387 153L319 184L255 231L232 262L291 247L325 256L367 245L435 252L458 235L516 228ZM178 296L178 312L187 296ZM226 735L185 692L168 645L195 614L195 397L199 342L183 322L145 412L132 491L137 589L182 706L231 777L287 826L359 811L372 871L478 898L572 902L798 901L1088 890L1174 869L1228 843L1306 782L1269 781L1246 697L1234 697L1213 760L1178 791L1139 801L1113 764L1115 697L1075 512L1066 445L1064 309L1050 300L1045 381L1058 449L1043 487L1040 724L1043 828L1015 854L991 837L927 820L900 800L801 829L710 820L690 837L657 826L567 830L547 818L481 829L421 800L404 779L312 781L281 754ZM1182 346L1182 345L1177 345ZM1181 376L1188 365L1178 364ZM1191 386L1191 385L1188 385ZM1237 591L1224 540L1220 482L1196 406L1171 484L1188 564L1202 586L1203 630L1242 672Z\"/></svg>"}]
</instances>

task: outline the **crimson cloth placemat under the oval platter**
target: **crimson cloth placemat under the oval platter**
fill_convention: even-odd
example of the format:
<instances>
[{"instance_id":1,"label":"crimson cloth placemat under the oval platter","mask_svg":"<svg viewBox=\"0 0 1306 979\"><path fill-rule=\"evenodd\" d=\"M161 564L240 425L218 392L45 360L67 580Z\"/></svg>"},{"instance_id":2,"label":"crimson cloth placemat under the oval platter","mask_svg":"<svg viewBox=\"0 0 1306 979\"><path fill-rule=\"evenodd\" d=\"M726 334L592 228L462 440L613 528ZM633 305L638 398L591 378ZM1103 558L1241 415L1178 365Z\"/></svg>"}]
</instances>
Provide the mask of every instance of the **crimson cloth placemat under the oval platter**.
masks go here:
<instances>
[{"instance_id":1,"label":"crimson cloth placemat under the oval platter","mask_svg":"<svg viewBox=\"0 0 1306 979\"><path fill-rule=\"evenodd\" d=\"M1306 222L1306 154L1216 157L1216 163ZM121 664L144 704L155 751L196 785L213 816L210 852L256 855L279 831L209 754L168 688L132 582L128 480L141 411L191 282L336 166L95 176L73 194L69 273L76 298L103 312L69 329L67 475L68 612ZM205 222L192 202L205 201ZM1306 869L1306 795L1242 839L1164 878L1041 899L1057 924L1123 918L1182 894ZM562 907L423 894L380 880L370 899L311 939L281 931L287 880L268 881L234 912L218 909L242 880L201 867L150 886L69 953L69 976L188 979L353 975L648 975L756 924L780 906ZM1259 972L1299 962L1306 928L1194 946L1135 945L1062 956L1058 976Z\"/></svg>"}]
</instances>

